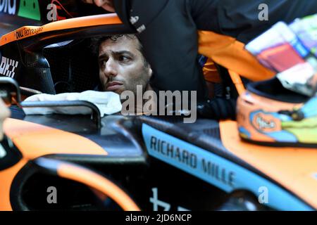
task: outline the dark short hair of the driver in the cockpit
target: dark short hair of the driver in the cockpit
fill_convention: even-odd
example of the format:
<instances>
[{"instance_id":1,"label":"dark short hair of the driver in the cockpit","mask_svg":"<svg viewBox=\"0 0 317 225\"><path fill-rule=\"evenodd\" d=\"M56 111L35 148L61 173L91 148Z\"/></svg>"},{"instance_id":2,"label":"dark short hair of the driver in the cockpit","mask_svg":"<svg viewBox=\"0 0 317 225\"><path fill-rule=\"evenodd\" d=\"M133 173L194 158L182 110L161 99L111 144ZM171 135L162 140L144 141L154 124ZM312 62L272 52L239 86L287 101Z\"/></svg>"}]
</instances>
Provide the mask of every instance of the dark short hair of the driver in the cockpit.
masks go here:
<instances>
[{"instance_id":1,"label":"dark short hair of the driver in the cockpit","mask_svg":"<svg viewBox=\"0 0 317 225\"><path fill-rule=\"evenodd\" d=\"M99 53L99 47L100 47L102 42L104 42L108 39L111 39L111 41L117 41L121 37L127 37L128 39L137 39L137 42L139 43L139 46L137 47L137 49L139 50L139 52L142 53L143 60L144 60L144 66L149 67L149 63L147 62L146 58L144 57L143 46L142 46L141 42L139 41L139 38L135 34L116 34L113 36L94 37L94 38L92 38L92 45L91 45L93 53L96 53L96 54Z\"/></svg>"}]
</instances>

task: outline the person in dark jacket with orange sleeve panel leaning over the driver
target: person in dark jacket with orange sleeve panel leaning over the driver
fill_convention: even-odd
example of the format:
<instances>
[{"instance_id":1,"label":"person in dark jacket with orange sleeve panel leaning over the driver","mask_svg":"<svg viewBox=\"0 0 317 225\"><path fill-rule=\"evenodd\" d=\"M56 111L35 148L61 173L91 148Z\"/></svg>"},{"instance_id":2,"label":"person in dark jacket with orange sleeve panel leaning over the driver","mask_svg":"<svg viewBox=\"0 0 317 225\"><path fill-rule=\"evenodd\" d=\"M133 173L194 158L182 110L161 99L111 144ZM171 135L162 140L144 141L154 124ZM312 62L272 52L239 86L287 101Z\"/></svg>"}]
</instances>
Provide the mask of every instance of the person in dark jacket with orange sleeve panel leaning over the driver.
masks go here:
<instances>
[{"instance_id":1,"label":"person in dark jacket with orange sleeve panel leaning over the driver","mask_svg":"<svg viewBox=\"0 0 317 225\"><path fill-rule=\"evenodd\" d=\"M87 2L87 0L85 0ZM116 13L139 32L159 90L207 96L198 53L252 81L273 77L244 44L279 21L317 13L311 0L89 0ZM261 6L267 18L261 17Z\"/></svg>"}]
</instances>

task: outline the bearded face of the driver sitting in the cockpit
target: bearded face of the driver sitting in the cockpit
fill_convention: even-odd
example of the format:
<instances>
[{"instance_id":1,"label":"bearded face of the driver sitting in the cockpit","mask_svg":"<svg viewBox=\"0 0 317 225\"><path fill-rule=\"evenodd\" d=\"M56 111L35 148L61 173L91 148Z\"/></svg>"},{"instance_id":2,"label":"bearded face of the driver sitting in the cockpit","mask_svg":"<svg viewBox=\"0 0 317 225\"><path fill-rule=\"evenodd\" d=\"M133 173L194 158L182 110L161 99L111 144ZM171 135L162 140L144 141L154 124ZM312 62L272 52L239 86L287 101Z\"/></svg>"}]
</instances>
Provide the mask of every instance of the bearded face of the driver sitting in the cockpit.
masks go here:
<instances>
[{"instance_id":1,"label":"bearded face of the driver sitting in the cockpit","mask_svg":"<svg viewBox=\"0 0 317 225\"><path fill-rule=\"evenodd\" d=\"M99 47L99 77L104 91L137 92L137 85L146 88L151 68L144 63L137 38L106 39Z\"/></svg>"}]
</instances>

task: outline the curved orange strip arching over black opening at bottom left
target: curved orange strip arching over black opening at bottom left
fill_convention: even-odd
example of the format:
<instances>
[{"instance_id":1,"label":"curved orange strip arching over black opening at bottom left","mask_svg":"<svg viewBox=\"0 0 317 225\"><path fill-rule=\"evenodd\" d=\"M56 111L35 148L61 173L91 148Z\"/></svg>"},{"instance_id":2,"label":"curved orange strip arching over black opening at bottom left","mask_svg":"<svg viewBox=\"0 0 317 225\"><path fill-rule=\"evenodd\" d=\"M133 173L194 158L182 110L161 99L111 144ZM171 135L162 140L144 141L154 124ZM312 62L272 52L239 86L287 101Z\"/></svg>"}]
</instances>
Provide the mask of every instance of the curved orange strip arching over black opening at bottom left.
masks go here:
<instances>
[{"instance_id":1,"label":"curved orange strip arching over black opening at bottom left","mask_svg":"<svg viewBox=\"0 0 317 225\"><path fill-rule=\"evenodd\" d=\"M89 187L101 191L118 203L118 205L125 211L140 211L135 202L121 188L116 186L116 184L113 184L113 182L109 181L104 176L92 172L89 169L77 167L75 165L62 164L58 167L57 173L58 176L86 184Z\"/></svg>"}]
</instances>

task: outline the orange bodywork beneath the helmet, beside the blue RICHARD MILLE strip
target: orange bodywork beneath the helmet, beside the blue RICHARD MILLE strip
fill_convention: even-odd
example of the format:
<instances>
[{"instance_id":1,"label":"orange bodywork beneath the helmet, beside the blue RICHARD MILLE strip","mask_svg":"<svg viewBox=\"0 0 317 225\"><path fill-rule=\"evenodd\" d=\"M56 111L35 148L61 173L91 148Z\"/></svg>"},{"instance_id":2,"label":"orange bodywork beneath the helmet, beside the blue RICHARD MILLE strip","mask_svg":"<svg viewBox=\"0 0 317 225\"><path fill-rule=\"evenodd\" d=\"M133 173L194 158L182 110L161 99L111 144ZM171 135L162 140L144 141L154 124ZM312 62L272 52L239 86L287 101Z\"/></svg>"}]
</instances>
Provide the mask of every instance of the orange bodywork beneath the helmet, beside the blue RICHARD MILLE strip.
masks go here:
<instances>
[{"instance_id":1,"label":"orange bodywork beneath the helmet, beside the blue RICHARD MILLE strip","mask_svg":"<svg viewBox=\"0 0 317 225\"><path fill-rule=\"evenodd\" d=\"M220 122L225 148L259 169L317 209L317 151L311 148L273 148L240 140L237 123Z\"/></svg>"}]
</instances>

